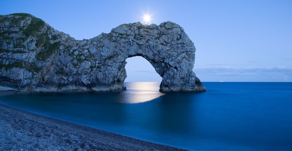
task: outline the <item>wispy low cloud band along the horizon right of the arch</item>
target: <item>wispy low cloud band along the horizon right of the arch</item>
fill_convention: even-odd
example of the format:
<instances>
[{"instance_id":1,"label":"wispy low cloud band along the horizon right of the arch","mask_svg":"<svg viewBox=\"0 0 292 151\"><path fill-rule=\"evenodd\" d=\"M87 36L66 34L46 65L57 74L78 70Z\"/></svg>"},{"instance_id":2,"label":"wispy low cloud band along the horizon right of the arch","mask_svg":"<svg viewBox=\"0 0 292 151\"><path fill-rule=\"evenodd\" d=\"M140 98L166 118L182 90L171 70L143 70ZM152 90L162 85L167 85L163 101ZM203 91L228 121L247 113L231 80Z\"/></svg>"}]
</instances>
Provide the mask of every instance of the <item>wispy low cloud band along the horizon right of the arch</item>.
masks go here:
<instances>
[{"instance_id":1,"label":"wispy low cloud band along the horizon right of the arch","mask_svg":"<svg viewBox=\"0 0 292 151\"><path fill-rule=\"evenodd\" d=\"M292 82L291 66L240 67L229 65L207 65L193 71L202 81L259 81ZM232 77L232 78L230 78Z\"/></svg>"}]
</instances>

